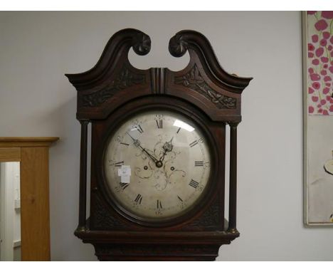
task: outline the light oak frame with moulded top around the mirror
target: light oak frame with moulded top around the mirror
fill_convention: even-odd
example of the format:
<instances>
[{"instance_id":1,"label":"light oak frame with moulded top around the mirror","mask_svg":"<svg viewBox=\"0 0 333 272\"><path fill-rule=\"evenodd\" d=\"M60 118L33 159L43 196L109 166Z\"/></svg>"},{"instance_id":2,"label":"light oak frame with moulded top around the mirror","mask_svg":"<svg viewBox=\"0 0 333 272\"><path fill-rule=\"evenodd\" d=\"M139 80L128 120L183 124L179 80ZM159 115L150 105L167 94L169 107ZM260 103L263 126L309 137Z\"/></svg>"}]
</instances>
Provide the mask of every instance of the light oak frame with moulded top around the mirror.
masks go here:
<instances>
[{"instance_id":1,"label":"light oak frame with moulded top around the mirror","mask_svg":"<svg viewBox=\"0 0 333 272\"><path fill-rule=\"evenodd\" d=\"M0 137L0 162L21 162L21 261L50 261L48 147L58 137Z\"/></svg>"}]
</instances>

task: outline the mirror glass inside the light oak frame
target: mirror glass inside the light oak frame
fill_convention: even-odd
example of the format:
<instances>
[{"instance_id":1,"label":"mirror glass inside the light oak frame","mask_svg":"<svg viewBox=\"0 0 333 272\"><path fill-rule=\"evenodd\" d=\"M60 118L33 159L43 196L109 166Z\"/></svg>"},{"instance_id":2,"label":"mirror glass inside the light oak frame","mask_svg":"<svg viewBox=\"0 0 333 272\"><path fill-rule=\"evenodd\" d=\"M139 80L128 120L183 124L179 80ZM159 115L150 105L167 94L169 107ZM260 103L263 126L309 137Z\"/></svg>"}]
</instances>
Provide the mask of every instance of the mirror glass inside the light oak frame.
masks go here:
<instances>
[{"instance_id":1,"label":"mirror glass inside the light oak frame","mask_svg":"<svg viewBox=\"0 0 333 272\"><path fill-rule=\"evenodd\" d=\"M21 261L20 162L0 163L0 261Z\"/></svg>"}]
</instances>

